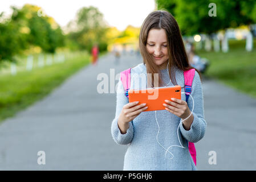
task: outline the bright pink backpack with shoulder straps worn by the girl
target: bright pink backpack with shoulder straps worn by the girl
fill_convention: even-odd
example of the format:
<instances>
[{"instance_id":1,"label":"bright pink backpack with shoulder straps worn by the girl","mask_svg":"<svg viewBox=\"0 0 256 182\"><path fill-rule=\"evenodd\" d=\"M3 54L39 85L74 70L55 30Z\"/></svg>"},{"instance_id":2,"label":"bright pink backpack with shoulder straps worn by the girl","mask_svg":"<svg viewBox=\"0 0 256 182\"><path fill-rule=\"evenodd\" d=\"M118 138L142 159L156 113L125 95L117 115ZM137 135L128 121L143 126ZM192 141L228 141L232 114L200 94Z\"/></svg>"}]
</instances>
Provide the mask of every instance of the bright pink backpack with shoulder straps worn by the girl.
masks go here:
<instances>
[{"instance_id":1,"label":"bright pink backpack with shoulder straps worn by the girl","mask_svg":"<svg viewBox=\"0 0 256 182\"><path fill-rule=\"evenodd\" d=\"M189 94L192 92L192 82L194 78L194 73L195 73L195 69L190 69L189 71L184 72L185 92ZM128 90L131 86L131 68L121 72L120 79L124 86L125 96L129 98ZM186 94L186 102L188 102L189 94ZM197 152L196 152L196 147L194 147L194 143L188 142L188 147L189 147L190 155L194 160L194 164L197 165L197 158L196 158Z\"/></svg>"}]
</instances>

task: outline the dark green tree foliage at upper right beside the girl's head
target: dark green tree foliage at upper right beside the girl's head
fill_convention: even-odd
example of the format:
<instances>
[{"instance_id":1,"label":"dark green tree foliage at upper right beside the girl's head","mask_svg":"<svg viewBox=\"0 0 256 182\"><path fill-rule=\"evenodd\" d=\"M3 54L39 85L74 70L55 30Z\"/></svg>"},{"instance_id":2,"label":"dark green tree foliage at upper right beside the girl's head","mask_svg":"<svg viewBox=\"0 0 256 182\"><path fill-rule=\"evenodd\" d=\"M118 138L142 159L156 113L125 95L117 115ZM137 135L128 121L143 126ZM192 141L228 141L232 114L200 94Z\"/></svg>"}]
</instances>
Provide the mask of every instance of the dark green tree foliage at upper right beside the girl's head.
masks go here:
<instances>
[{"instance_id":1,"label":"dark green tree foliage at upper right beside the girl's head","mask_svg":"<svg viewBox=\"0 0 256 182\"><path fill-rule=\"evenodd\" d=\"M250 13L256 9L256 2L252 0L156 0L156 3L158 8L174 15L185 35L212 34L221 29L253 23L256 19L253 17L255 13ZM216 4L217 16L209 16L210 3Z\"/></svg>"}]
</instances>

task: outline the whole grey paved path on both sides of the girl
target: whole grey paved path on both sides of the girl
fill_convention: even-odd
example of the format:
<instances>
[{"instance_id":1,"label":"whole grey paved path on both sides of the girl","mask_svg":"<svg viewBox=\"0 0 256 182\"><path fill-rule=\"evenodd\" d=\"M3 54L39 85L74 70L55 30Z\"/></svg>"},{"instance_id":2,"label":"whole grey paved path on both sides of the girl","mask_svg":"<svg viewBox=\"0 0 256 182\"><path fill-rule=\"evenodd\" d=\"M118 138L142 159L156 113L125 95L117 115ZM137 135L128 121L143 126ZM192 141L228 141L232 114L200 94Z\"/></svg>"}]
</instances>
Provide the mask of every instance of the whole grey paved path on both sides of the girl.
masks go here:
<instances>
[{"instance_id":1,"label":"whole grey paved path on both sides of the girl","mask_svg":"<svg viewBox=\"0 0 256 182\"><path fill-rule=\"evenodd\" d=\"M122 170L127 146L111 138L116 94L97 93L97 75L110 75L142 62L125 55L114 64L112 55L68 78L43 100L0 125L1 170ZM116 81L117 84L117 81ZM196 143L198 169L256 169L256 100L212 80L202 81L205 137ZM38 151L46 154L39 165ZM217 164L208 163L216 151Z\"/></svg>"}]
</instances>

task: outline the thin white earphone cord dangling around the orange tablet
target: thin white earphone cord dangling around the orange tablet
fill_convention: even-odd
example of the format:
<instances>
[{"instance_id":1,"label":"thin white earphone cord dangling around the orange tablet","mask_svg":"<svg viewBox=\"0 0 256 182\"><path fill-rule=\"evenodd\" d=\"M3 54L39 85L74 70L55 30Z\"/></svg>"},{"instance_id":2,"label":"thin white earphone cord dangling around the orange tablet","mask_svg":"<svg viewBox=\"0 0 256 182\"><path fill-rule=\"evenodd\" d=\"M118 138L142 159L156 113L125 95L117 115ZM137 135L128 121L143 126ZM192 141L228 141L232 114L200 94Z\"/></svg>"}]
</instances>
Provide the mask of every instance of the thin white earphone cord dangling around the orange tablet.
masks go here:
<instances>
[{"instance_id":1,"label":"thin white earphone cord dangling around the orange tablet","mask_svg":"<svg viewBox=\"0 0 256 182\"><path fill-rule=\"evenodd\" d=\"M169 62L168 62L168 64L169 64ZM168 64L167 64L167 70L168 70L168 75L169 75ZM170 81L169 81L169 83L170 83ZM168 84L169 84L169 83L168 83ZM168 85L168 84L166 84L166 85ZM165 86L166 86L166 85L165 85ZM152 85L152 86L153 86L153 85ZM185 94L186 94L186 92L181 92L181 93L185 93ZM189 93L187 93L187 94L189 94ZM191 96L191 95L189 94L189 96ZM194 99L193 99L192 96L191 96L191 98L192 98L192 101L193 101L193 107L192 107L192 111L191 111L190 115L193 113L193 110L194 110ZM190 117L190 115L189 115L189 117ZM155 110L155 117L156 117L156 110ZM186 119L188 119L189 117L187 117ZM184 119L183 121L185 121L186 119ZM159 127L159 131L160 131L160 126L159 126L159 123L157 122L157 118L156 118L156 123L157 123L157 126ZM181 123L182 123L182 119L181 119L180 123L178 124L178 127L180 127ZM159 140L158 140L158 138L157 138L158 135L159 135L159 131L157 132L157 135L156 135L157 143L159 143ZM177 128L177 135L178 135L178 128ZM178 142L180 142L180 137L178 137ZM172 154L172 152L169 151L169 148L171 148L171 147L181 147L181 148L185 148L184 146L182 146L181 142L180 142L180 146L172 145L172 146L169 146L167 149L166 149L164 146L162 146L160 143L159 143L159 145L160 145L162 148L164 148L164 150L166 150L166 151L165 151L165 158L166 158L167 152L169 152L169 153L172 155L172 158L168 158L168 159L173 159L173 157L174 157L173 154Z\"/></svg>"}]
</instances>

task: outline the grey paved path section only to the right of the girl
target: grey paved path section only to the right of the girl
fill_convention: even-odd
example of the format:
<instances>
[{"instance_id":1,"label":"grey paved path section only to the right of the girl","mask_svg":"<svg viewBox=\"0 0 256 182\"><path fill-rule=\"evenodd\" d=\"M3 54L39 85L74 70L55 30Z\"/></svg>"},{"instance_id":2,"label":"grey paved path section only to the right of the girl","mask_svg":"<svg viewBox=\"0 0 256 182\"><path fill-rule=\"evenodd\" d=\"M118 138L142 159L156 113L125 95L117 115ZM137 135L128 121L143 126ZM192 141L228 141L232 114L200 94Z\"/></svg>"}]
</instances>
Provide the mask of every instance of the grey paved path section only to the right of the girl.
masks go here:
<instances>
[{"instance_id":1,"label":"grey paved path section only to the right of the girl","mask_svg":"<svg viewBox=\"0 0 256 182\"><path fill-rule=\"evenodd\" d=\"M256 169L256 100L213 80L203 82L205 137L195 144L198 169ZM209 152L217 154L210 165Z\"/></svg>"}]
</instances>

